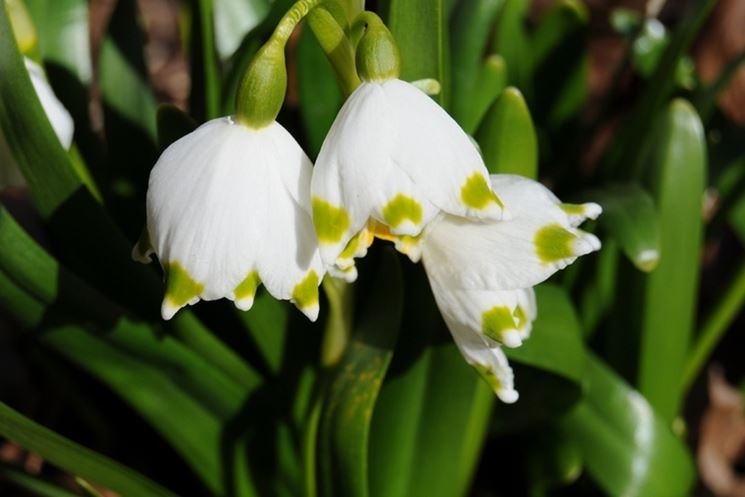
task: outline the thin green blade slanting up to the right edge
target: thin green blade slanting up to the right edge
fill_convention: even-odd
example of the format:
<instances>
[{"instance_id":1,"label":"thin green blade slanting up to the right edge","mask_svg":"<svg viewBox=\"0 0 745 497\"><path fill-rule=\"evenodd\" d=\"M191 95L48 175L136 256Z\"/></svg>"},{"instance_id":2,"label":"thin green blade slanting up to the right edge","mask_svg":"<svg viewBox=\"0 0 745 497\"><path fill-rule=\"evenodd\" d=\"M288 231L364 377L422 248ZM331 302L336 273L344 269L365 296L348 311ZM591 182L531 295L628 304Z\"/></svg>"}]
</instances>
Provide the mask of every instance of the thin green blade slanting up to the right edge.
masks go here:
<instances>
[{"instance_id":1,"label":"thin green blade slanting up to the right edge","mask_svg":"<svg viewBox=\"0 0 745 497\"><path fill-rule=\"evenodd\" d=\"M737 314L745 304L745 262L740 268L719 299L716 307L704 322L698 340L693 347L693 352L688 358L685 373L683 375L683 388L688 390L711 355L714 347L719 343L724 332L737 317Z\"/></svg>"}]
</instances>

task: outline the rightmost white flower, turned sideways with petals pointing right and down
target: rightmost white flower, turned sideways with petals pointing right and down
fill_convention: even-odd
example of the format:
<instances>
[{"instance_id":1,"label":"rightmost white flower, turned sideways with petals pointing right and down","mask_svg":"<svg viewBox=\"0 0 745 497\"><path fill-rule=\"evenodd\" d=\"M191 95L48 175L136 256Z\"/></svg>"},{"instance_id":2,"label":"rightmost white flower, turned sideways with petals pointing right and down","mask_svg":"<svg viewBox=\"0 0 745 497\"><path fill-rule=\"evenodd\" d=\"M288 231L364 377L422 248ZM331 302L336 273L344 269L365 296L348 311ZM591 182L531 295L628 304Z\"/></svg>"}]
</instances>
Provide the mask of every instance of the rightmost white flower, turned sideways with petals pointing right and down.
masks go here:
<instances>
[{"instance_id":1,"label":"rightmost white flower, turned sideways with petals pointing right and down","mask_svg":"<svg viewBox=\"0 0 745 497\"><path fill-rule=\"evenodd\" d=\"M537 314L532 287L600 248L577 229L595 219L594 203L562 204L540 183L493 175L491 185L511 219L496 222L443 215L409 241L421 255L440 312L466 361L505 402L517 400L512 371L500 347L528 338Z\"/></svg>"}]
</instances>

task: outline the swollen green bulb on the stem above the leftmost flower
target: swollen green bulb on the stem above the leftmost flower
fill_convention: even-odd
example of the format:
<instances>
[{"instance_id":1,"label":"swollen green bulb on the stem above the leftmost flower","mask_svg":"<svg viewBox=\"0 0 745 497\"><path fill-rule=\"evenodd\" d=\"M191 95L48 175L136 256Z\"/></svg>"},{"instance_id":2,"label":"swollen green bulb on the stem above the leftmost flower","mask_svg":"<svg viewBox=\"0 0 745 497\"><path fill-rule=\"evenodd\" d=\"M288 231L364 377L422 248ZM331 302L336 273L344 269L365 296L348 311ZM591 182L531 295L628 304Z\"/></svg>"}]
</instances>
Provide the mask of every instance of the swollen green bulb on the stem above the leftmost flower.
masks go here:
<instances>
[{"instance_id":1,"label":"swollen green bulb on the stem above the leftmost flower","mask_svg":"<svg viewBox=\"0 0 745 497\"><path fill-rule=\"evenodd\" d=\"M284 43L270 39L241 80L236 94L236 119L254 129L271 124L279 114L287 91Z\"/></svg>"}]
</instances>

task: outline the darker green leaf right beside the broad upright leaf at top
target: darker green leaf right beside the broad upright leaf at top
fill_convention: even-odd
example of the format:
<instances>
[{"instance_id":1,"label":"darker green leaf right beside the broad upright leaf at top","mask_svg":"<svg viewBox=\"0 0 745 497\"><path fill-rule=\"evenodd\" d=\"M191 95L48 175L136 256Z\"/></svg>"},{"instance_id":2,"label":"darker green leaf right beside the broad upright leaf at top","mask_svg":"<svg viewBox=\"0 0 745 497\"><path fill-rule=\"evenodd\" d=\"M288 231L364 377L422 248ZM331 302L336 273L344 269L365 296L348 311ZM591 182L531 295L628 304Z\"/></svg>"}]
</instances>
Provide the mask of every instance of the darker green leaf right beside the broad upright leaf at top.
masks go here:
<instances>
[{"instance_id":1,"label":"darker green leaf right beside the broad upright leaf at top","mask_svg":"<svg viewBox=\"0 0 745 497\"><path fill-rule=\"evenodd\" d=\"M473 109L476 88L480 85L487 88L492 85L499 85L499 80L491 82L492 84L482 82L485 77L494 74L493 65L486 66L482 59L489 42L489 34L494 19L503 2L504 0L458 2L452 14L450 22L453 81L452 113L455 120L461 123L466 131L473 132L473 128L476 127L483 115L480 114L478 109ZM502 69L498 74L506 79L504 61L502 59L498 60L501 61ZM495 78L491 79L494 80ZM492 98L496 95L497 93ZM491 100L486 105L490 103Z\"/></svg>"}]
</instances>

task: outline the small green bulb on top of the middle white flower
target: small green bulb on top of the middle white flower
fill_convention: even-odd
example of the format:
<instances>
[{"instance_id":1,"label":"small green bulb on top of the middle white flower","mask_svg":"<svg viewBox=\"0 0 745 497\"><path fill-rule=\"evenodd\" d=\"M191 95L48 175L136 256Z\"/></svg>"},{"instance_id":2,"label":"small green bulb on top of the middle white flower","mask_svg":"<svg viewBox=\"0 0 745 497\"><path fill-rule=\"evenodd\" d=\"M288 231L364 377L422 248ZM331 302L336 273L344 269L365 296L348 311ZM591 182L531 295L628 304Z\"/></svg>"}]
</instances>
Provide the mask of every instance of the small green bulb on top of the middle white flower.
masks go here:
<instances>
[{"instance_id":1,"label":"small green bulb on top of the middle white flower","mask_svg":"<svg viewBox=\"0 0 745 497\"><path fill-rule=\"evenodd\" d=\"M356 24L364 23L365 33L357 45L357 72L364 81L396 79L401 74L401 57L393 35L380 18L363 12Z\"/></svg>"}]
</instances>

